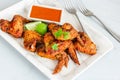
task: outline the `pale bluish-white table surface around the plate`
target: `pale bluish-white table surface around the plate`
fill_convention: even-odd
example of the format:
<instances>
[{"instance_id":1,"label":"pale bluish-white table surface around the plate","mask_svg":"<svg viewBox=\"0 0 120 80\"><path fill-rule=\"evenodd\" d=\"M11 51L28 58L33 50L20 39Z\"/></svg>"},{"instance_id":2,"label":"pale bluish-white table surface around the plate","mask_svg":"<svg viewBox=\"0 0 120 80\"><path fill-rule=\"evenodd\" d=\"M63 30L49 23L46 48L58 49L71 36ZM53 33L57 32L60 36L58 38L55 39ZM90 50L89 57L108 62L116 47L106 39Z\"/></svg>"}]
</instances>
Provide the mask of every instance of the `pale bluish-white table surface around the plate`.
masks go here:
<instances>
[{"instance_id":1,"label":"pale bluish-white table surface around the plate","mask_svg":"<svg viewBox=\"0 0 120 80\"><path fill-rule=\"evenodd\" d=\"M20 0L0 0L0 10ZM61 2L63 0L60 0ZM104 23L120 34L120 0L84 0ZM120 43L94 19L88 18L114 45L114 49L97 61L76 80L120 80ZM104 46L104 45L103 45ZM0 80L49 80L0 36Z\"/></svg>"}]
</instances>

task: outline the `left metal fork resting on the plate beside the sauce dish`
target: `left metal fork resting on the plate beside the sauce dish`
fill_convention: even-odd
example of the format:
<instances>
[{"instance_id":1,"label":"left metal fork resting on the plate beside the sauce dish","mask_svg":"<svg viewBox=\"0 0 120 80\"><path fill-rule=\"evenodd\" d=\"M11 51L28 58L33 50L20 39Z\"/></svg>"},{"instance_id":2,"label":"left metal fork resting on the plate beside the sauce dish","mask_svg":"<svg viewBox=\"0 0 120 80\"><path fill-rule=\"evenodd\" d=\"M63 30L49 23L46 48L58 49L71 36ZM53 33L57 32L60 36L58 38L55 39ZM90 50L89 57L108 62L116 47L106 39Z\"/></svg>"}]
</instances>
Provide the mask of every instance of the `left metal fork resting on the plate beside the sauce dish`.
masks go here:
<instances>
[{"instance_id":1,"label":"left metal fork resting on the plate beside the sauce dish","mask_svg":"<svg viewBox=\"0 0 120 80\"><path fill-rule=\"evenodd\" d=\"M78 9L76 9L74 7L74 2L71 2L71 0L64 0L64 8L66 9L66 11L68 11L69 13L71 14L74 14L76 16L76 18L78 19L80 25L81 25L81 28L83 30L83 32L86 32L85 28L83 27L83 25L81 24L81 21L79 19L79 16L77 14L77 11L79 11ZM86 32L87 33L87 32Z\"/></svg>"}]
</instances>

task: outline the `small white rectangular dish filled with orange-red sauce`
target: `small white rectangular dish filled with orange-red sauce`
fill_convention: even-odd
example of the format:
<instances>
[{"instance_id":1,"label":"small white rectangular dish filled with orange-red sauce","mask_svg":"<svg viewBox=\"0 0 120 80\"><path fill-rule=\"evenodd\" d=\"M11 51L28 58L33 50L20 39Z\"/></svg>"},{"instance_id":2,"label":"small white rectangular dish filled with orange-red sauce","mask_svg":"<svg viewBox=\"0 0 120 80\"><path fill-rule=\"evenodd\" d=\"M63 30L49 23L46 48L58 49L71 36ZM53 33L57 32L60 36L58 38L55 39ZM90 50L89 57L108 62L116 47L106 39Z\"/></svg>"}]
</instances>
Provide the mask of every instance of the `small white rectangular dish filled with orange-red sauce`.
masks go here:
<instances>
[{"instance_id":1,"label":"small white rectangular dish filled with orange-red sauce","mask_svg":"<svg viewBox=\"0 0 120 80\"><path fill-rule=\"evenodd\" d=\"M29 17L45 21L60 22L62 10L46 6L33 5Z\"/></svg>"}]
</instances>

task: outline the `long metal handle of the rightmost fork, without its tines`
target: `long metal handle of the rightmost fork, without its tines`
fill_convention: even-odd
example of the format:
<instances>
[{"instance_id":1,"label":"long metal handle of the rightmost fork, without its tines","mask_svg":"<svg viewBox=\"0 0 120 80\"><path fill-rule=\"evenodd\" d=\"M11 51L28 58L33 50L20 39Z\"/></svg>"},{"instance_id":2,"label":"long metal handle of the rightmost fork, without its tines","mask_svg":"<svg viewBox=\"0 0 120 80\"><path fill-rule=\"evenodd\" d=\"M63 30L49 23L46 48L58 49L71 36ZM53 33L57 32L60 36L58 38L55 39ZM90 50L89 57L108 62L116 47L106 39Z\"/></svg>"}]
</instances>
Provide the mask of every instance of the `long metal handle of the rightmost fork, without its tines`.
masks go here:
<instances>
[{"instance_id":1,"label":"long metal handle of the rightmost fork, without its tines","mask_svg":"<svg viewBox=\"0 0 120 80\"><path fill-rule=\"evenodd\" d=\"M92 16L95 17L103 25L103 27L112 35L112 37L114 37L120 43L119 34L116 34L110 28L108 28L96 15L92 15Z\"/></svg>"}]
</instances>

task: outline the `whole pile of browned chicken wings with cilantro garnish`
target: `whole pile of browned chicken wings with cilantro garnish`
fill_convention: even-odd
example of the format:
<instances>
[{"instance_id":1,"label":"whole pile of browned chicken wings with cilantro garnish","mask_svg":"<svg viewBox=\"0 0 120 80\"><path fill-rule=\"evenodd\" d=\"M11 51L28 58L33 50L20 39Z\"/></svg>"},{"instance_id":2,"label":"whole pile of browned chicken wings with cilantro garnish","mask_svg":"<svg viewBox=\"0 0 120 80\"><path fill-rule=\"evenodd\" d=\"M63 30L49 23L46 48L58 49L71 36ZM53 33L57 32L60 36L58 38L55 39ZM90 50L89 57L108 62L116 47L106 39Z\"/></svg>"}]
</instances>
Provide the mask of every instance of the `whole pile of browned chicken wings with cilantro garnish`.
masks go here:
<instances>
[{"instance_id":1,"label":"whole pile of browned chicken wings with cilantro garnish","mask_svg":"<svg viewBox=\"0 0 120 80\"><path fill-rule=\"evenodd\" d=\"M41 57L58 60L53 74L60 72L63 66L68 66L68 56L80 65L76 51L87 55L96 54L96 45L89 36L75 30L70 23L48 23L47 33L41 35L36 31L24 29L24 24L29 22L31 21L15 15L11 21L0 19L0 28L15 38L23 38L26 50L37 52Z\"/></svg>"}]
</instances>

